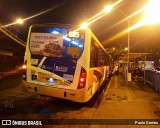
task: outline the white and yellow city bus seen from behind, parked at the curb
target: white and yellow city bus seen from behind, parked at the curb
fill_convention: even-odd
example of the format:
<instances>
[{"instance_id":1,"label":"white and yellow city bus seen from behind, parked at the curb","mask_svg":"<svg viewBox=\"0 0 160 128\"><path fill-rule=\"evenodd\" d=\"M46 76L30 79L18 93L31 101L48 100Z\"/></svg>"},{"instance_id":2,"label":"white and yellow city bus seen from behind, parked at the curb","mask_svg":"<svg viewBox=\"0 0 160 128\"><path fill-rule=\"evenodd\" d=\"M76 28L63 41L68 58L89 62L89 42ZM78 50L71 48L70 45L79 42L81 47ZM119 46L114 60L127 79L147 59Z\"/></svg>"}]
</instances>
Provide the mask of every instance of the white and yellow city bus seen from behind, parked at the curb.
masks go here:
<instances>
[{"instance_id":1,"label":"white and yellow city bus seen from behind, parked at the curb","mask_svg":"<svg viewBox=\"0 0 160 128\"><path fill-rule=\"evenodd\" d=\"M84 103L108 77L110 56L89 28L35 24L29 28L24 63L25 90Z\"/></svg>"}]
</instances>

